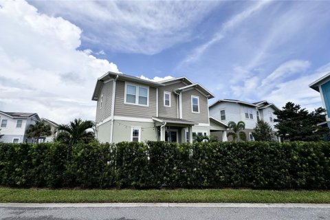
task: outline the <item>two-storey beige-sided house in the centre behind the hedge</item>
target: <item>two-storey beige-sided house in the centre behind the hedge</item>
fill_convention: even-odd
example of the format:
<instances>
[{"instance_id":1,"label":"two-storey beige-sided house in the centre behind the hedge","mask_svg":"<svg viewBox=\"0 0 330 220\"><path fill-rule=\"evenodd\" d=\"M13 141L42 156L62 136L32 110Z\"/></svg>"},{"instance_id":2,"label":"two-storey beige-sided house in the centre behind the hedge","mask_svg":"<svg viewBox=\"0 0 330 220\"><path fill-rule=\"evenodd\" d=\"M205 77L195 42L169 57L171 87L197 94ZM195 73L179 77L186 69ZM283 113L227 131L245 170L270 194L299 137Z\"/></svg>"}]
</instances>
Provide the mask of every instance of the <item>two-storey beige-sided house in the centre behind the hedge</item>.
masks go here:
<instances>
[{"instance_id":1,"label":"two-storey beige-sided house in the centre behind the hedge","mask_svg":"<svg viewBox=\"0 0 330 220\"><path fill-rule=\"evenodd\" d=\"M98 78L96 137L100 142L192 142L195 135L224 131L227 125L209 118L214 96L186 77L159 83L108 72ZM225 138L226 139L226 138Z\"/></svg>"}]
</instances>

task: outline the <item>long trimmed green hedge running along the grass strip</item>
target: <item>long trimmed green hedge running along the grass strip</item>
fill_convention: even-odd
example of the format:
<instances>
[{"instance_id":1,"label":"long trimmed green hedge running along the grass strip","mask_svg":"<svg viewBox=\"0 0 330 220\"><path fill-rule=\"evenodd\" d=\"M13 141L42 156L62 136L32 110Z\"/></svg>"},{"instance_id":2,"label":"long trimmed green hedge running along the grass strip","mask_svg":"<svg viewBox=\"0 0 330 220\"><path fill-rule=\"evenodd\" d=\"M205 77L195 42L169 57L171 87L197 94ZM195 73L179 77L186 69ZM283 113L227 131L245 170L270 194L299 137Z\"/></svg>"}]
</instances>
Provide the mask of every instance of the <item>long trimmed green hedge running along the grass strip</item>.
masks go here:
<instances>
[{"instance_id":1,"label":"long trimmed green hedge running along the grass strip","mask_svg":"<svg viewBox=\"0 0 330 220\"><path fill-rule=\"evenodd\" d=\"M330 142L1 143L0 185L329 189Z\"/></svg>"}]
</instances>

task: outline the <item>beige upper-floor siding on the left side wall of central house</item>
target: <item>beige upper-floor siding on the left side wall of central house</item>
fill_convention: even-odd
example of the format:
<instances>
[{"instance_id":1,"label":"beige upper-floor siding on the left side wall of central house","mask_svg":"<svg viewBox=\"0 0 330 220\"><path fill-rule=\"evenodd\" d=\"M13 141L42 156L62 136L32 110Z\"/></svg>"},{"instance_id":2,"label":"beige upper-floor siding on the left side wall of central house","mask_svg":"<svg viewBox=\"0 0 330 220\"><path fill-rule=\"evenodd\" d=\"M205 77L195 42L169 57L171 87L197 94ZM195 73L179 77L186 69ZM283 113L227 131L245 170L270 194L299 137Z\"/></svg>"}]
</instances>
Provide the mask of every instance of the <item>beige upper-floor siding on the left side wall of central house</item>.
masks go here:
<instances>
[{"instance_id":1,"label":"beige upper-floor siding on the left side wall of central house","mask_svg":"<svg viewBox=\"0 0 330 220\"><path fill-rule=\"evenodd\" d=\"M111 104L112 104L112 88L113 81L104 83L98 97L98 104L96 106L96 123L102 122L102 120L109 118L111 116ZM102 99L102 108L100 108L100 102Z\"/></svg>"}]
</instances>

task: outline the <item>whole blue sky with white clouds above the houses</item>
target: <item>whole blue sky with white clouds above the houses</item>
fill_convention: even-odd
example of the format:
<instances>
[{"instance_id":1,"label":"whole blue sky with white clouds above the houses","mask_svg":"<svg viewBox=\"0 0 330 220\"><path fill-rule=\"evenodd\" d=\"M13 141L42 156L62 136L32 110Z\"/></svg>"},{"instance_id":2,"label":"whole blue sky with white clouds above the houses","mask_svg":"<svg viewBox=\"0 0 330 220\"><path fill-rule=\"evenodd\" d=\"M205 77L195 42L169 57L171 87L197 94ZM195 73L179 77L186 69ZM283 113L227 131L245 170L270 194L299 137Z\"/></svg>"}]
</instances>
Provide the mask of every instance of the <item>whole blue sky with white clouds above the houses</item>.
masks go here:
<instances>
[{"instance_id":1,"label":"whole blue sky with white clouds above the houses","mask_svg":"<svg viewBox=\"0 0 330 220\"><path fill-rule=\"evenodd\" d=\"M0 0L0 110L95 120L108 71L186 76L215 98L322 106L329 1Z\"/></svg>"}]
</instances>

